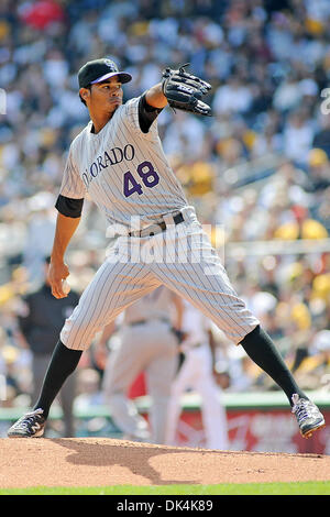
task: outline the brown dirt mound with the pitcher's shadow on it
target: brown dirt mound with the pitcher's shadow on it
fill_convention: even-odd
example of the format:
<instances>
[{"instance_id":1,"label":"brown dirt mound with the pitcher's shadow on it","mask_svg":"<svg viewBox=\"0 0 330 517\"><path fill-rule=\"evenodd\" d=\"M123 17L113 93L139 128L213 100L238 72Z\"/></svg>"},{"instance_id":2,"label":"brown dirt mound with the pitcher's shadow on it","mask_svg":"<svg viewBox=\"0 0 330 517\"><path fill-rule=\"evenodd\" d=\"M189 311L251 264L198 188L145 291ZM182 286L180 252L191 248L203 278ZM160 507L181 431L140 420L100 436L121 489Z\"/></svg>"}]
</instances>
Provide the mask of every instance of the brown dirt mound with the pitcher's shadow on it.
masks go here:
<instances>
[{"instance_id":1,"label":"brown dirt mound with the pitcher's shadow on it","mask_svg":"<svg viewBox=\"0 0 330 517\"><path fill-rule=\"evenodd\" d=\"M0 487L329 481L330 457L169 448L108 438L0 439Z\"/></svg>"}]
</instances>

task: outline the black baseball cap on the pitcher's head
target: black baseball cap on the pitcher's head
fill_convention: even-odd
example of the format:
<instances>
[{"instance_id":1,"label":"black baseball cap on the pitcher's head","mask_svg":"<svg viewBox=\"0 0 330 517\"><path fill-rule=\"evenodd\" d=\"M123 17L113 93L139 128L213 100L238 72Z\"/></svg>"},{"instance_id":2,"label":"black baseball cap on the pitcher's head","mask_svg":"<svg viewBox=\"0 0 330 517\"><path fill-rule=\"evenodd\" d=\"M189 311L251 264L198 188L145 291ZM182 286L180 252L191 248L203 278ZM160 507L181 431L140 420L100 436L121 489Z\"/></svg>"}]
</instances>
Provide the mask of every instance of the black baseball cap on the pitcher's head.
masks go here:
<instances>
[{"instance_id":1,"label":"black baseball cap on the pitcher's head","mask_svg":"<svg viewBox=\"0 0 330 517\"><path fill-rule=\"evenodd\" d=\"M132 79L131 74L119 72L118 66L112 59L103 57L101 59L89 61L78 72L79 88L101 82L112 76L119 76L120 82L129 82Z\"/></svg>"}]
</instances>

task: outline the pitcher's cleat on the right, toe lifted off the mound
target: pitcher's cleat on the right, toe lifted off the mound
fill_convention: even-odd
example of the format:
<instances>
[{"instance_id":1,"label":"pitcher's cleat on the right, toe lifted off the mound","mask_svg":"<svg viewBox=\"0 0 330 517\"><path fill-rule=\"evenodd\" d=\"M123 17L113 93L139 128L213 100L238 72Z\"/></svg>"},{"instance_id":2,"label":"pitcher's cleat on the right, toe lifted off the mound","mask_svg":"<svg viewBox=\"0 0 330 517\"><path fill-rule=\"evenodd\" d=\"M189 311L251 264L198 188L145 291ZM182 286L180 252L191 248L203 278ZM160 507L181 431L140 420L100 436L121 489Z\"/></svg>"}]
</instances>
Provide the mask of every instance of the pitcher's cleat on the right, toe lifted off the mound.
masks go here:
<instances>
[{"instance_id":1,"label":"pitcher's cleat on the right, toe lifted off the mound","mask_svg":"<svg viewBox=\"0 0 330 517\"><path fill-rule=\"evenodd\" d=\"M292 397L294 403L292 411L296 415L304 438L310 438L311 435L326 426L324 417L318 407L307 398L299 398L295 393Z\"/></svg>"}]
</instances>

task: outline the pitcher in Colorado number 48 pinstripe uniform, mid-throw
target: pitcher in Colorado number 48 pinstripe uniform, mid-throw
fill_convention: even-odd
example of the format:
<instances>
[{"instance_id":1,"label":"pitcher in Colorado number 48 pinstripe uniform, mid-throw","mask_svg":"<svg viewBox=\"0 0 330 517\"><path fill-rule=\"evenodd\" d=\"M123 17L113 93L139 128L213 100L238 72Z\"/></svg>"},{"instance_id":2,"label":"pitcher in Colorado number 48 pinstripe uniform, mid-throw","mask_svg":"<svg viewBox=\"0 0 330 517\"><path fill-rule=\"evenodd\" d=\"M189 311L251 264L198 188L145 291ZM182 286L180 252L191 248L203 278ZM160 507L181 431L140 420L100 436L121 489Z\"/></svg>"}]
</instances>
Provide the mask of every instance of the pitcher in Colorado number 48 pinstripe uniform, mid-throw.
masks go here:
<instances>
[{"instance_id":1,"label":"pitcher in Colorado number 48 pinstripe uniform, mid-throw","mask_svg":"<svg viewBox=\"0 0 330 517\"><path fill-rule=\"evenodd\" d=\"M301 435L311 436L324 426L323 416L235 293L162 148L156 120L162 109L168 102L174 109L209 116L210 108L201 99L210 85L184 67L167 68L157 85L123 103L122 85L131 78L107 58L88 62L78 73L79 95L91 120L70 145L56 202L50 267L53 295L66 296L62 285L69 275L65 252L87 194L116 239L64 324L38 400L8 436L42 436L55 396L96 333L162 284L243 346L286 394Z\"/></svg>"}]
</instances>

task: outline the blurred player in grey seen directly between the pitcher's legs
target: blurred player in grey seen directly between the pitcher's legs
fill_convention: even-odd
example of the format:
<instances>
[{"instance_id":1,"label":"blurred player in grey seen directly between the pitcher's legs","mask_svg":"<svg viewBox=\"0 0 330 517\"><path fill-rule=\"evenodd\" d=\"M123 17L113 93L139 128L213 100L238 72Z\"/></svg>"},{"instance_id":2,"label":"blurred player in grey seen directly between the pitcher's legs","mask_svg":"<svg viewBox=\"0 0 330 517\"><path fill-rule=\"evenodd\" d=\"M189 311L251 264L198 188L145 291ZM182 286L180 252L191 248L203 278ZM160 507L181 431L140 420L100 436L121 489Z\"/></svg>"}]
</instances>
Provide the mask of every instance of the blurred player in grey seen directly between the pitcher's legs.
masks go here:
<instances>
[{"instance_id":1,"label":"blurred player in grey seen directly between the pitcher's legs","mask_svg":"<svg viewBox=\"0 0 330 517\"><path fill-rule=\"evenodd\" d=\"M164 286L135 301L123 315L120 343L111 350L103 376L105 398L111 417L132 440L165 443L165 426L170 386L178 365L178 338L183 300ZM105 348L116 331L106 327L97 349ZM129 387L144 372L151 397L150 426L128 397Z\"/></svg>"}]
</instances>

